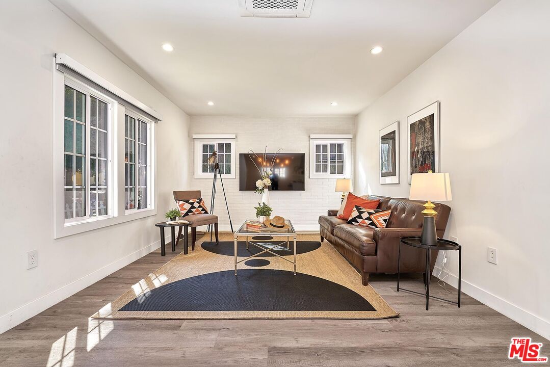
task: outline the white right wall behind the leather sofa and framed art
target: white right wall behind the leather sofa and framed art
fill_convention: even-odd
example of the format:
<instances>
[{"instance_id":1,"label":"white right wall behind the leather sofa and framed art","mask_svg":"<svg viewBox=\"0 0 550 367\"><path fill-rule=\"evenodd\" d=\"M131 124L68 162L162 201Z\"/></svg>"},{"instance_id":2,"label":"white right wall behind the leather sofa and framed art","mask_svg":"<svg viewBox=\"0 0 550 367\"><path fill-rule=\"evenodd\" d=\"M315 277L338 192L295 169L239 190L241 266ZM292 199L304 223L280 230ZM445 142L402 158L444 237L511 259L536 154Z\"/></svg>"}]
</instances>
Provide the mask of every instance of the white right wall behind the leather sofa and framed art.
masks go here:
<instances>
[{"instance_id":1,"label":"white right wall behind the leather sofa and framed art","mask_svg":"<svg viewBox=\"0 0 550 367\"><path fill-rule=\"evenodd\" d=\"M447 235L464 247L463 289L546 338L548 14L546 0L500 1L357 117L355 168L357 191L407 197L406 117L441 101L441 171L453 191ZM395 120L401 183L380 185L378 130ZM487 247L498 249L498 265Z\"/></svg>"}]
</instances>

